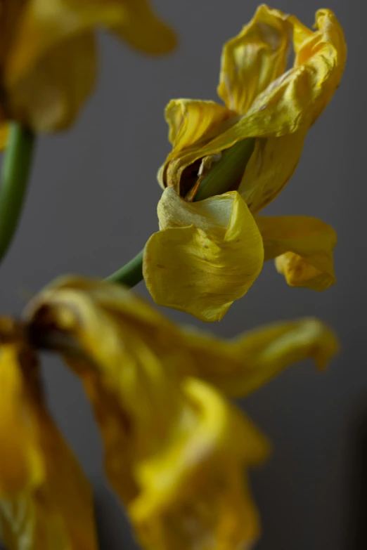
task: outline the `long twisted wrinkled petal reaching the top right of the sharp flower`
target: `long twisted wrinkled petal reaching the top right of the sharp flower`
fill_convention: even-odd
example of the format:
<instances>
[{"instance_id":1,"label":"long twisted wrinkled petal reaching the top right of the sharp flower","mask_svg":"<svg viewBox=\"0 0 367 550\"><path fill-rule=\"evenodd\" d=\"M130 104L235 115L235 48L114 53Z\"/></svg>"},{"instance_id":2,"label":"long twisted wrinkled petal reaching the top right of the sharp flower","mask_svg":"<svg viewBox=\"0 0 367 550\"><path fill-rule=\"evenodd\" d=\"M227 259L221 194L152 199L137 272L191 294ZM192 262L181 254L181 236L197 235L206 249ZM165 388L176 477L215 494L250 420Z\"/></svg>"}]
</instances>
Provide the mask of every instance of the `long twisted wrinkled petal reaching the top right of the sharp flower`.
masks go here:
<instances>
[{"instance_id":1,"label":"long twisted wrinkled petal reaching the top right of the sharp flower","mask_svg":"<svg viewBox=\"0 0 367 550\"><path fill-rule=\"evenodd\" d=\"M316 13L315 32L307 30L297 18L288 17L288 22L297 48L295 66L271 82L242 117L219 125L217 137L211 136L209 143L196 144L172 155L167 166L167 185L179 188L183 171L198 159L216 155L245 138L276 138L307 132L321 114L345 67L342 28L330 10Z\"/></svg>"}]
</instances>

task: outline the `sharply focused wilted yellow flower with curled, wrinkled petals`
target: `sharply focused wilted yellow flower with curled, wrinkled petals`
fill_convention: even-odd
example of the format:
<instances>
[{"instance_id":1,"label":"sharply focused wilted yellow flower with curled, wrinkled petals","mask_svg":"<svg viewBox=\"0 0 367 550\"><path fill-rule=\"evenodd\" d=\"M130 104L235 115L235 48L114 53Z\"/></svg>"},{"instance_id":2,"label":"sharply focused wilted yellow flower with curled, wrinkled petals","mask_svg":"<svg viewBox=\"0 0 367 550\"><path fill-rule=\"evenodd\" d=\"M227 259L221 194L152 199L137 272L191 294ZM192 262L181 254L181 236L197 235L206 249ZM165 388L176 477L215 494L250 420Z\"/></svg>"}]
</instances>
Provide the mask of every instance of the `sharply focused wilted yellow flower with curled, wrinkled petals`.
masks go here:
<instances>
[{"instance_id":1,"label":"sharply focused wilted yellow flower with curled, wrinkled petals","mask_svg":"<svg viewBox=\"0 0 367 550\"><path fill-rule=\"evenodd\" d=\"M173 149L159 173L160 232L148 240L143 265L160 305L219 320L264 259L277 256L291 286L323 290L335 282L333 228L304 216L257 215L292 176L307 131L342 77L346 46L333 12L319 10L315 27L260 6L224 46L218 93L225 105L181 99L167 106ZM291 37L295 60L286 71ZM195 197L198 174L248 138L255 149L238 181L228 181L230 192L185 200Z\"/></svg>"}]
</instances>

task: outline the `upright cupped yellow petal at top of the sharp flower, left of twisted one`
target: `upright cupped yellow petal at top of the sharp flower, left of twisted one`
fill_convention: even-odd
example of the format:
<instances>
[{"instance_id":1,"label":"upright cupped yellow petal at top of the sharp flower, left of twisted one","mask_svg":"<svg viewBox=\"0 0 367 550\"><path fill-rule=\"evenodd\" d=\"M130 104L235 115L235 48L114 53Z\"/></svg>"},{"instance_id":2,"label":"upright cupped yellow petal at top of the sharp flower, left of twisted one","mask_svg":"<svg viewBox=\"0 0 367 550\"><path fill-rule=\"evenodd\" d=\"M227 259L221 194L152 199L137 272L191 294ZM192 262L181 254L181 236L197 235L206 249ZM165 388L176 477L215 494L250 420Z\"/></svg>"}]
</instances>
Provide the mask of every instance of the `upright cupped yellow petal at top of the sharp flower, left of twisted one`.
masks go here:
<instances>
[{"instance_id":1,"label":"upright cupped yellow petal at top of the sharp flower, left of twisted one","mask_svg":"<svg viewBox=\"0 0 367 550\"><path fill-rule=\"evenodd\" d=\"M224 44L218 95L229 109L244 114L285 72L289 39L287 16L262 5L240 34Z\"/></svg>"}]
</instances>

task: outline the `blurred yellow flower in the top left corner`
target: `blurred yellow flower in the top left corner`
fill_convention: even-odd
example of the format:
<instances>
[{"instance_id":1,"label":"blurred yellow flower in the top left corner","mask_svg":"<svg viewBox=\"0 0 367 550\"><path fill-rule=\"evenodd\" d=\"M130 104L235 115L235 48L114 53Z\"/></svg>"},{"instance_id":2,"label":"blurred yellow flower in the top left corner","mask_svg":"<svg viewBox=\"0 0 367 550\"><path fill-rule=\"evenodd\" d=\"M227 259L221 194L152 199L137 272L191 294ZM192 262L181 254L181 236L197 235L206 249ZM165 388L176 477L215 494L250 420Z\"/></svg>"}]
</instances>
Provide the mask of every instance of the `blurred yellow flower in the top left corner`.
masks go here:
<instances>
[{"instance_id":1,"label":"blurred yellow flower in the top left corner","mask_svg":"<svg viewBox=\"0 0 367 550\"><path fill-rule=\"evenodd\" d=\"M94 87L98 27L146 53L176 44L148 0L2 1L0 122L35 131L69 126Z\"/></svg>"}]
</instances>

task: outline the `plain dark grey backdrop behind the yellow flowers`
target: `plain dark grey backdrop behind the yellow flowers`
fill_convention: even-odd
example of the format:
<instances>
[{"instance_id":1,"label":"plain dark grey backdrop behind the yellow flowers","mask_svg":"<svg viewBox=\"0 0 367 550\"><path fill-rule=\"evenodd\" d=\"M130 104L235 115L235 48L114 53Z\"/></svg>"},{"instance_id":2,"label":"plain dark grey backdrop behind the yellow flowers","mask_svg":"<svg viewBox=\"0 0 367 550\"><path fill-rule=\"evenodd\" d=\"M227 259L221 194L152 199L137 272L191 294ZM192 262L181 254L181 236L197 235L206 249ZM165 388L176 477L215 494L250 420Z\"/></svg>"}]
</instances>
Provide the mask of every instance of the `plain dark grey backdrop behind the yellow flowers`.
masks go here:
<instances>
[{"instance_id":1,"label":"plain dark grey backdrop behind the yellow flowers","mask_svg":"<svg viewBox=\"0 0 367 550\"><path fill-rule=\"evenodd\" d=\"M257 1L157 0L155 6L178 30L179 51L152 60L101 37L94 97L69 133L39 140L25 213L0 271L4 313L18 314L60 273L108 275L141 249L157 229L155 173L169 151L165 104L176 97L216 99L221 45L252 17ZM311 25L324 6L278 0L274 7ZM309 132L295 177L266 213L306 214L332 224L339 236L337 284L323 294L290 289L269 263L247 296L210 327L232 336L280 318L318 315L342 339L342 353L326 374L304 362L244 402L274 442L273 457L252 476L264 525L260 550L367 544L367 2L328 0L326 7L345 29L345 77ZM137 292L150 300L143 284ZM98 434L79 384L56 360L45 358L44 365L53 412L94 483L101 547L132 549L129 528L103 480Z\"/></svg>"}]
</instances>

